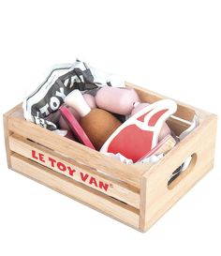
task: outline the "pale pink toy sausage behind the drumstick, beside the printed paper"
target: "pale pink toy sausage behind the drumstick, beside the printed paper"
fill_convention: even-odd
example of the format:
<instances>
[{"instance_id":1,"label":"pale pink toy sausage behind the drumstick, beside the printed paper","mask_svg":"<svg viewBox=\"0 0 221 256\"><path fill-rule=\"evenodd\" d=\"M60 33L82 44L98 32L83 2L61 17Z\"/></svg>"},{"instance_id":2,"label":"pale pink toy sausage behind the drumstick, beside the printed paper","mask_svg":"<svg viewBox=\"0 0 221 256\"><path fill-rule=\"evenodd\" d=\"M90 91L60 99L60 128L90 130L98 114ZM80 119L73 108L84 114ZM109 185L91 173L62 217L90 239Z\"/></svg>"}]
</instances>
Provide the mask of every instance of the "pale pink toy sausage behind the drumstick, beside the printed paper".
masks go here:
<instances>
[{"instance_id":1,"label":"pale pink toy sausage behind the drumstick, beside the printed paper","mask_svg":"<svg viewBox=\"0 0 221 256\"><path fill-rule=\"evenodd\" d=\"M111 113L127 115L137 101L140 99L134 89L104 86L96 93L97 107Z\"/></svg>"}]
</instances>

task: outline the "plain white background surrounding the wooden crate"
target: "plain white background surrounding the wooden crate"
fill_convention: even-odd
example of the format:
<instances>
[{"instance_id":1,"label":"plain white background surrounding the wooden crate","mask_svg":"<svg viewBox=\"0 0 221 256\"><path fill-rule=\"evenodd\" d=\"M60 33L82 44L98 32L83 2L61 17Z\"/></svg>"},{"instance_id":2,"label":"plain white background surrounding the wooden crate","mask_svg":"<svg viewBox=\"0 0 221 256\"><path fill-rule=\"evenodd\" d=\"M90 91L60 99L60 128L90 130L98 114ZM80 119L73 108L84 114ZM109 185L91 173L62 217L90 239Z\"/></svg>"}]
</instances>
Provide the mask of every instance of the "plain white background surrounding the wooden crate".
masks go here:
<instances>
[{"instance_id":1,"label":"plain white background surrounding the wooden crate","mask_svg":"<svg viewBox=\"0 0 221 256\"><path fill-rule=\"evenodd\" d=\"M220 1L0 3L1 113L76 56L220 113ZM219 133L213 172L139 233L8 171L0 129L0 255L221 255Z\"/></svg>"}]
</instances>

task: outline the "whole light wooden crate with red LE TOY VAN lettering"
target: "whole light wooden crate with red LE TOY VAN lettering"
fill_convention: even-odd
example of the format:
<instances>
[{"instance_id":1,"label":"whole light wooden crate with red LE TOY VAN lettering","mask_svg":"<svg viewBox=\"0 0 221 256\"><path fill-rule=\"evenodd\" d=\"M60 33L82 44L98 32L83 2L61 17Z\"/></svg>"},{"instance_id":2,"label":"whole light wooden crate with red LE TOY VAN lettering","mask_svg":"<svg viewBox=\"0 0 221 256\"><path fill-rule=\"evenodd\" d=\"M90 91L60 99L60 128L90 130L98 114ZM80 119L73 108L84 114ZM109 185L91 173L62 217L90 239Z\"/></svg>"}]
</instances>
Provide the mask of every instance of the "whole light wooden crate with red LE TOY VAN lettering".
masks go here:
<instances>
[{"instance_id":1,"label":"whole light wooden crate with red LE TOY VAN lettering","mask_svg":"<svg viewBox=\"0 0 221 256\"><path fill-rule=\"evenodd\" d=\"M140 99L165 98L131 83ZM125 165L80 143L27 122L22 105L4 115L8 168L140 230L155 221L213 168L216 115L176 100L168 121L180 134L194 115L199 127L155 164ZM192 161L169 185L169 176L186 158Z\"/></svg>"}]
</instances>

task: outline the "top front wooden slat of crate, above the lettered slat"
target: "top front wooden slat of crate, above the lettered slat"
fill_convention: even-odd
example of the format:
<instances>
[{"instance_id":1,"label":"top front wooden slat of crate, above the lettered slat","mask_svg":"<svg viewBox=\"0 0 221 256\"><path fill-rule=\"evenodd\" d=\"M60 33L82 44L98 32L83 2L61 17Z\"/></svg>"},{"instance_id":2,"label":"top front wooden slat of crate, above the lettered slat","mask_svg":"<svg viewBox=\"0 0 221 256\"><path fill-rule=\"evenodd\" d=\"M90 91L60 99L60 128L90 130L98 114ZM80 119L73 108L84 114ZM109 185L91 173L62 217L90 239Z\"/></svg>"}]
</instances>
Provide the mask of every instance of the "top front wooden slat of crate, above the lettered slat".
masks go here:
<instances>
[{"instance_id":1,"label":"top front wooden slat of crate, above the lettered slat","mask_svg":"<svg viewBox=\"0 0 221 256\"><path fill-rule=\"evenodd\" d=\"M125 165L125 163L109 158L81 143L76 143L50 130L27 122L22 117L21 111L13 113L8 118L8 128L14 133L49 147L91 168L109 173L114 178L121 179L131 186L140 188L140 177L143 172L139 168L133 165Z\"/></svg>"}]
</instances>

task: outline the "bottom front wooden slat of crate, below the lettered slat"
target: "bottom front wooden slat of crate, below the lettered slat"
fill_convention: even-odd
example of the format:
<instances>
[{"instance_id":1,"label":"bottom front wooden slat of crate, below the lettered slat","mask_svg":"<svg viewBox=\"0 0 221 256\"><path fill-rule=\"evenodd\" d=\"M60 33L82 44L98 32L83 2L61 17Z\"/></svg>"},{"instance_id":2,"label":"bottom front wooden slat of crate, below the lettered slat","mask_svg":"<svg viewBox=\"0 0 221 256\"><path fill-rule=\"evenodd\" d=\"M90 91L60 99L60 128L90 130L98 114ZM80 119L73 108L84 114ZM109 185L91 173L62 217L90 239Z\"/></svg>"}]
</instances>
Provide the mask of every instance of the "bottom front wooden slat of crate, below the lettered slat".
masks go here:
<instances>
[{"instance_id":1,"label":"bottom front wooden slat of crate, below the lettered slat","mask_svg":"<svg viewBox=\"0 0 221 256\"><path fill-rule=\"evenodd\" d=\"M111 200L105 195L102 196L98 191L85 188L85 186L70 180L66 176L55 173L49 168L23 158L16 153L10 158L12 169L18 173L22 173L49 188L78 200L81 203L85 203L112 218L116 218L138 229L139 214L132 207L126 206L124 203L115 202L115 200Z\"/></svg>"}]
</instances>

